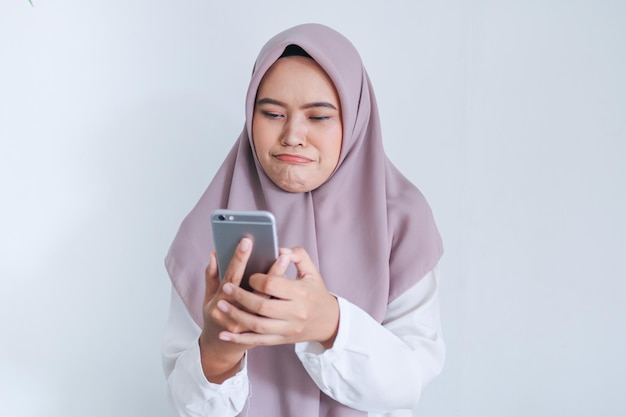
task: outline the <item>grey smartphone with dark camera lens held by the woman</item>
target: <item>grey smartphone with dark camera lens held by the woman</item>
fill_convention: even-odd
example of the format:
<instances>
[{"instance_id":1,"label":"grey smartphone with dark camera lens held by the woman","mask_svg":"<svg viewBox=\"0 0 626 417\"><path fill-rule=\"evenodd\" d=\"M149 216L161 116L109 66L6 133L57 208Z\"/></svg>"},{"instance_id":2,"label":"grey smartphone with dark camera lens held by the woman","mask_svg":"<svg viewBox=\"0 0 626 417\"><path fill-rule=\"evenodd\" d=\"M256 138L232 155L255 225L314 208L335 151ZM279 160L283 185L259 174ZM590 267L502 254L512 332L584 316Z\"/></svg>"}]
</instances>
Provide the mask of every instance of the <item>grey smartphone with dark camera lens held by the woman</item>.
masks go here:
<instances>
[{"instance_id":1,"label":"grey smartphone with dark camera lens held by the woman","mask_svg":"<svg viewBox=\"0 0 626 417\"><path fill-rule=\"evenodd\" d=\"M250 275L266 273L278 258L276 220L269 211L215 210L211 213L213 242L217 253L220 280L244 236L252 239L252 253L241 281L241 287L251 291Z\"/></svg>"}]
</instances>

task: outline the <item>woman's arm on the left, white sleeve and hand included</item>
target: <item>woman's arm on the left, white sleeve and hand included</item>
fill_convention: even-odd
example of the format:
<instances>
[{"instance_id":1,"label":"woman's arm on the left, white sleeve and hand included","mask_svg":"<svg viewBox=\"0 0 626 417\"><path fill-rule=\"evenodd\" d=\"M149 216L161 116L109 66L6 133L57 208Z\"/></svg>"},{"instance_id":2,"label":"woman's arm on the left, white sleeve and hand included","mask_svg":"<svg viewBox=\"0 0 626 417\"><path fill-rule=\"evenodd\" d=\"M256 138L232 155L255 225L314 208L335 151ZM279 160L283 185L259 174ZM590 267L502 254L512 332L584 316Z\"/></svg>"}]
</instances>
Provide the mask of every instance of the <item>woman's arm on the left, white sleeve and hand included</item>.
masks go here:
<instances>
[{"instance_id":1,"label":"woman's arm on the left, white sleeve and hand included","mask_svg":"<svg viewBox=\"0 0 626 417\"><path fill-rule=\"evenodd\" d=\"M249 392L245 366L248 346L222 340L219 334L246 329L230 321L220 305L229 300L224 285L238 286L241 282L251 249L250 239L242 239L221 283L215 252L211 253L205 271L202 329L172 291L163 365L172 403L181 416L235 416L245 405Z\"/></svg>"}]
</instances>

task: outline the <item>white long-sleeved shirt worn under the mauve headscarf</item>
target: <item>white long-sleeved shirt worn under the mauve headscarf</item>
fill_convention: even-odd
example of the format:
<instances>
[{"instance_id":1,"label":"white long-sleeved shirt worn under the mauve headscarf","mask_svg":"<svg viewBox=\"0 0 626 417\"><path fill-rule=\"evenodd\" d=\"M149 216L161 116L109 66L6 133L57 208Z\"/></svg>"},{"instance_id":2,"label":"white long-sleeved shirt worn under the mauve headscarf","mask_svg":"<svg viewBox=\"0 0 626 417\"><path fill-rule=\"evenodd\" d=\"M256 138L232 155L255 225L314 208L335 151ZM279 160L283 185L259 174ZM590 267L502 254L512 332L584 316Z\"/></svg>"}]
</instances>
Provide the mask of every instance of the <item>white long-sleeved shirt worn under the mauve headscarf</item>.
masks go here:
<instances>
[{"instance_id":1,"label":"white long-sleeved shirt worn under the mauve headscarf","mask_svg":"<svg viewBox=\"0 0 626 417\"><path fill-rule=\"evenodd\" d=\"M445 345L438 302L438 268L387 307L381 325L337 297L341 320L331 349L317 342L295 345L313 381L338 402L369 417L413 417L422 388L443 368ZM222 384L202 372L201 329L172 290L163 340L163 367L169 393L181 417L229 417L244 407L250 387L246 359Z\"/></svg>"}]
</instances>

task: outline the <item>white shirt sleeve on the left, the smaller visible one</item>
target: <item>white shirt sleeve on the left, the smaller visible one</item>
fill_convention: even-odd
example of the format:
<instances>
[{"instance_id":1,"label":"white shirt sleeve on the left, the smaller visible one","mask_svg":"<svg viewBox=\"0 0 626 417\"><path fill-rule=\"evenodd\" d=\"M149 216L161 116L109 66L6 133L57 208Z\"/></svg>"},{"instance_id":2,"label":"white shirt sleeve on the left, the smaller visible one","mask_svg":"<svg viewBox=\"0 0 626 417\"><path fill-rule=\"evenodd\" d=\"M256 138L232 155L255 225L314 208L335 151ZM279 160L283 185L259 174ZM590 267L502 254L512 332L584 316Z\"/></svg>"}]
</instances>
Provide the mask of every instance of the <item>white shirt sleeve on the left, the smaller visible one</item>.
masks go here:
<instances>
[{"instance_id":1,"label":"white shirt sleeve on the left, the smaller visible one","mask_svg":"<svg viewBox=\"0 0 626 417\"><path fill-rule=\"evenodd\" d=\"M171 402L181 417L238 415L249 390L246 358L239 372L222 384L209 382L202 372L198 338L180 296L172 289L170 315L163 338L163 369Z\"/></svg>"}]
</instances>

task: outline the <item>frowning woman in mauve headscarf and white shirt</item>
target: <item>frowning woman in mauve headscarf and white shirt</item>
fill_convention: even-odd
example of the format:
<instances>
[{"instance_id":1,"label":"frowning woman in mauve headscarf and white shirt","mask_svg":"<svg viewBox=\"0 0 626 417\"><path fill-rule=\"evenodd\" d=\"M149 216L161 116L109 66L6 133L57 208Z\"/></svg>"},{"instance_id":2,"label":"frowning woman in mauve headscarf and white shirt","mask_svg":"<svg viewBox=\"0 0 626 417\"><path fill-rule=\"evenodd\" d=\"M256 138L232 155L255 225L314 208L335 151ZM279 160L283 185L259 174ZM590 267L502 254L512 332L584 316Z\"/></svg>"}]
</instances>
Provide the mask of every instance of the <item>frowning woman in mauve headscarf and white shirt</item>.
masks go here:
<instances>
[{"instance_id":1,"label":"frowning woman in mauve headscarf and white shirt","mask_svg":"<svg viewBox=\"0 0 626 417\"><path fill-rule=\"evenodd\" d=\"M250 278L255 292L238 286L248 239L219 282L217 208L276 217L284 249ZM384 153L352 44L317 24L276 35L255 63L245 128L166 259L177 411L412 416L444 361L441 254L427 202Z\"/></svg>"}]
</instances>

